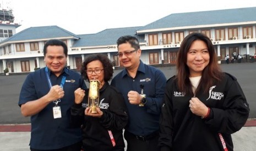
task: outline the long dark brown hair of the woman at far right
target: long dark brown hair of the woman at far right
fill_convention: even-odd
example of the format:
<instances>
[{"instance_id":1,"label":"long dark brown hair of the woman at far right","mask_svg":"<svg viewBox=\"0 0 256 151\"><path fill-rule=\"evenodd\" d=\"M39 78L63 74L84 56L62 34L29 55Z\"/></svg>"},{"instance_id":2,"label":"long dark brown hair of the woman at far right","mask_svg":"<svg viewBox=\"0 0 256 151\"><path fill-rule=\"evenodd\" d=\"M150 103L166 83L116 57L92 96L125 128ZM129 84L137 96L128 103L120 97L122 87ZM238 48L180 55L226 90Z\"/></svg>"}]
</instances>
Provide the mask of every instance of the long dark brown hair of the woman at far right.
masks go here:
<instances>
[{"instance_id":1,"label":"long dark brown hair of the woman at far right","mask_svg":"<svg viewBox=\"0 0 256 151\"><path fill-rule=\"evenodd\" d=\"M189 68L187 66L187 53L192 43L195 40L202 40L208 47L210 61L208 66L203 69L201 80L197 89L204 87L204 92L215 83L219 82L223 76L220 66L217 63L217 56L214 50L214 45L211 40L203 33L191 33L182 41L178 51L177 59L177 76L178 88L182 92L193 94L192 84L189 80ZM204 84L204 85L203 85Z\"/></svg>"}]
</instances>

